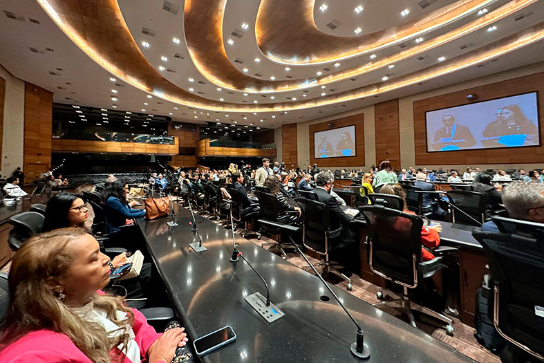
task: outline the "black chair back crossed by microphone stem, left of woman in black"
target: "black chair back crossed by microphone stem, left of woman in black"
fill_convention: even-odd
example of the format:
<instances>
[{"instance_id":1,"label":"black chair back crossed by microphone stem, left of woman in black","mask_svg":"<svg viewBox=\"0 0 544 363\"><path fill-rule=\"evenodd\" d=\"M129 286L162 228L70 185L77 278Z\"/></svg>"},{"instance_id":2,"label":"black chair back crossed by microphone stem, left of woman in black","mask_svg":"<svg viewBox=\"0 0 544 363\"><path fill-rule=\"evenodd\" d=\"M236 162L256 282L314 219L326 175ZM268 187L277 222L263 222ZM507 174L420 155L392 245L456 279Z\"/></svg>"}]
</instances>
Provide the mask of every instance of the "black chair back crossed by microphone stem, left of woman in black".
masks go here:
<instances>
[{"instance_id":1,"label":"black chair back crossed by microphone stem, left of woman in black","mask_svg":"<svg viewBox=\"0 0 544 363\"><path fill-rule=\"evenodd\" d=\"M451 208L451 218L453 223L463 223L468 225L482 225L485 222L485 210L486 210L486 197L485 194L478 192L471 192L468 190L449 190L446 192L451 204L458 207L462 212L465 212L476 222L466 214L459 212L456 208Z\"/></svg>"}]
</instances>

